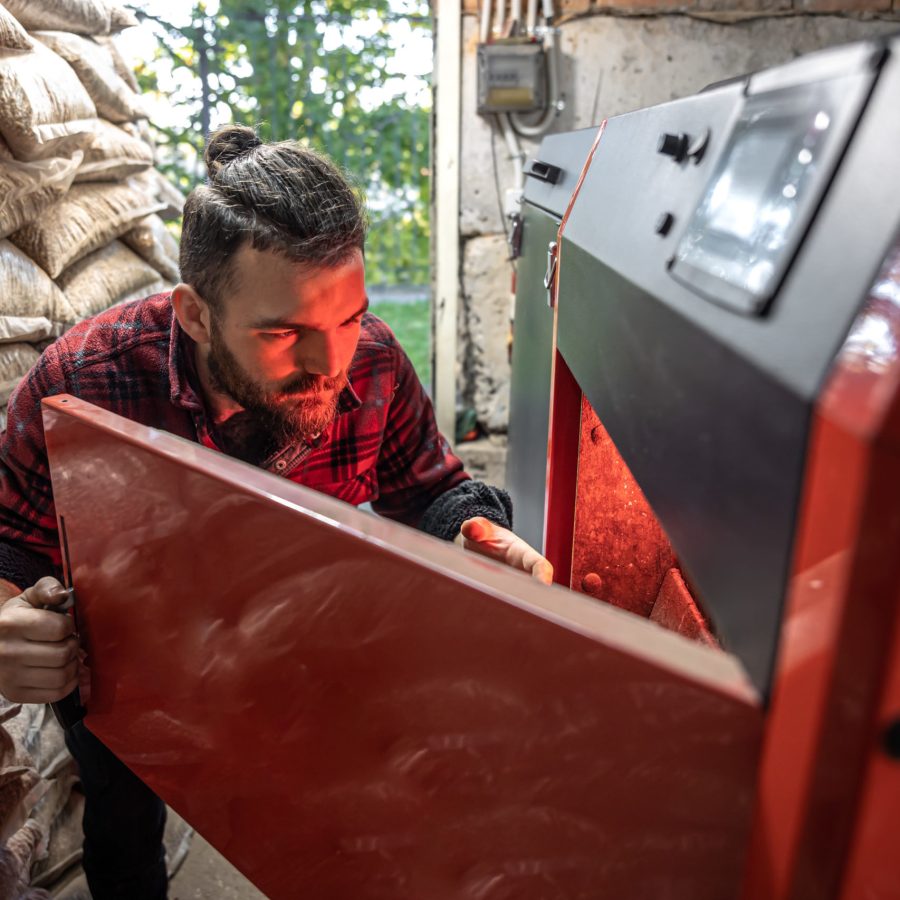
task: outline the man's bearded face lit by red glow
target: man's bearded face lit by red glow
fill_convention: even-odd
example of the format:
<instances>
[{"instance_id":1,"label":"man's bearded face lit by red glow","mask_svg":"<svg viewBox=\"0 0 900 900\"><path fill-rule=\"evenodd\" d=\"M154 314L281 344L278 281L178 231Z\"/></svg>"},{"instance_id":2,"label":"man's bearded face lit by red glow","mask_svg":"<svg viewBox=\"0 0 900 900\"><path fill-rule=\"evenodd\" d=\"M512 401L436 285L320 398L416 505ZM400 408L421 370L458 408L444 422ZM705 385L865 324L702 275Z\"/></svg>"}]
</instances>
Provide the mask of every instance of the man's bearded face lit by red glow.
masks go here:
<instances>
[{"instance_id":1,"label":"man's bearded face lit by red glow","mask_svg":"<svg viewBox=\"0 0 900 900\"><path fill-rule=\"evenodd\" d=\"M311 437L334 419L368 301L362 254L334 268L242 247L210 321L213 387L267 429Z\"/></svg>"}]
</instances>

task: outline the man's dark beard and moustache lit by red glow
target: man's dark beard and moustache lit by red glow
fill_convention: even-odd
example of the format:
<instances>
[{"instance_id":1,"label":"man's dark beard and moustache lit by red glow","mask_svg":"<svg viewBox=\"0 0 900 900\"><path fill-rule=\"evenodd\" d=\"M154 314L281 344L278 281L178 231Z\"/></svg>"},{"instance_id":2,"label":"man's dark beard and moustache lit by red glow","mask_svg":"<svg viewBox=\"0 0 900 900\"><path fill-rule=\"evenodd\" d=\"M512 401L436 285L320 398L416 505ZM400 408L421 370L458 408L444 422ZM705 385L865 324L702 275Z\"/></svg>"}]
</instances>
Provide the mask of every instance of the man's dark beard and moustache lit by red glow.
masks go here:
<instances>
[{"instance_id":1,"label":"man's dark beard and moustache lit by red glow","mask_svg":"<svg viewBox=\"0 0 900 900\"><path fill-rule=\"evenodd\" d=\"M207 364L213 388L244 408L238 414L241 430L265 435L276 448L324 431L334 421L338 397L347 386L345 372L336 378L304 373L274 389L260 385L228 349L215 317Z\"/></svg>"}]
</instances>

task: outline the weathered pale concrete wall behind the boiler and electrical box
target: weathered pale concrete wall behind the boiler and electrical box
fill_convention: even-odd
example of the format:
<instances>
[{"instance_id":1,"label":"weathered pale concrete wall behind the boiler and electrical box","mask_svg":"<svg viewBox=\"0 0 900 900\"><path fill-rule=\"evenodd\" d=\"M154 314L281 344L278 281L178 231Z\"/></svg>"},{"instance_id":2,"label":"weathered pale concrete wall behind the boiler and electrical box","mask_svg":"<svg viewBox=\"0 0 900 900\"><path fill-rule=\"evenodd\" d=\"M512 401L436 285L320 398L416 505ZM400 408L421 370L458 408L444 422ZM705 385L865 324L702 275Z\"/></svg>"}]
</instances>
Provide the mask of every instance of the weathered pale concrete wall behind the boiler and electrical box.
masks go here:
<instances>
[{"instance_id":1,"label":"weathered pale concrete wall behind the boiler and electrical box","mask_svg":"<svg viewBox=\"0 0 900 900\"><path fill-rule=\"evenodd\" d=\"M557 0L556 6L563 13L566 106L553 131L597 125L604 117L683 97L723 78L900 29L900 0L893 0L893 10L891 0L620 0L615 8ZM841 9L848 12L825 14ZM493 157L501 197L512 184L512 167L492 121L475 112L477 2L466 0L465 10L460 393L486 431L502 434L509 407L511 265ZM533 156L537 142L522 143L526 158Z\"/></svg>"}]
</instances>

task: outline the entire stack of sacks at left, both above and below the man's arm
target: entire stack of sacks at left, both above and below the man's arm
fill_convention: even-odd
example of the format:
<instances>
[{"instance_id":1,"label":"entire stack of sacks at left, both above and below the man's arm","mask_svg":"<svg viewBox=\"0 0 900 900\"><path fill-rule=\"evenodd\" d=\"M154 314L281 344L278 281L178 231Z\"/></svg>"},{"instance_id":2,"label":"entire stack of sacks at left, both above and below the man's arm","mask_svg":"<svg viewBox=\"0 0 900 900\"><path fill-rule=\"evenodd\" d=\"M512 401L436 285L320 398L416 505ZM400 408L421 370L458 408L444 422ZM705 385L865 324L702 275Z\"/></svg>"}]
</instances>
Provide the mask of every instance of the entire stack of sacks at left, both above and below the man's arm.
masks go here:
<instances>
[{"instance_id":1,"label":"entire stack of sacks at left, both above and below the man's arm","mask_svg":"<svg viewBox=\"0 0 900 900\"><path fill-rule=\"evenodd\" d=\"M0 428L49 341L178 280L160 214L184 198L153 168L112 37L134 24L108 0L0 0ZM80 859L82 806L49 708L0 698L0 900L57 894Z\"/></svg>"}]
</instances>

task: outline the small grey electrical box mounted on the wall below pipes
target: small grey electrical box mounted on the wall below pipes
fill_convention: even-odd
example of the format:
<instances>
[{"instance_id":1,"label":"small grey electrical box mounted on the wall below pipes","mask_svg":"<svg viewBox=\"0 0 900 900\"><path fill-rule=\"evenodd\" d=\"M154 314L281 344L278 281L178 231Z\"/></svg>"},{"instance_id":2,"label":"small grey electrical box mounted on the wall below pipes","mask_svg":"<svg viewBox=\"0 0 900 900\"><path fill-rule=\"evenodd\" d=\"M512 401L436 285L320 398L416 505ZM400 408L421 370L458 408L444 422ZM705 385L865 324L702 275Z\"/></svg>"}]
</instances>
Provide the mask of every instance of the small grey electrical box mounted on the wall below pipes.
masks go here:
<instances>
[{"instance_id":1,"label":"small grey electrical box mounted on the wall below pipes","mask_svg":"<svg viewBox=\"0 0 900 900\"><path fill-rule=\"evenodd\" d=\"M537 112L547 107L547 56L541 44L478 46L478 112Z\"/></svg>"}]
</instances>

